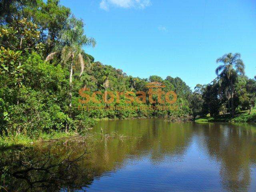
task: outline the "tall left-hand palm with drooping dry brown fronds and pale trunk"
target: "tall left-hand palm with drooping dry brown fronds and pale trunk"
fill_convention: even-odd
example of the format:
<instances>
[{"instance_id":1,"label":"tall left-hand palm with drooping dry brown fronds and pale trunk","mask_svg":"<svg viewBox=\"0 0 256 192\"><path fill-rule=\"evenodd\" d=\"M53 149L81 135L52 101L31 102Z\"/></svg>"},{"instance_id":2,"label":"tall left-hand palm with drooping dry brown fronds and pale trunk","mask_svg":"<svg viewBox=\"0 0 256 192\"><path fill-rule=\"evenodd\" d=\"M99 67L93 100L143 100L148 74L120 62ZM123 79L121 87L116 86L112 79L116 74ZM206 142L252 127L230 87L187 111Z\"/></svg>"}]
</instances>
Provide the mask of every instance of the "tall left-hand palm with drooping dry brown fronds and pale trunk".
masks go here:
<instances>
[{"instance_id":1,"label":"tall left-hand palm with drooping dry brown fronds and pale trunk","mask_svg":"<svg viewBox=\"0 0 256 192\"><path fill-rule=\"evenodd\" d=\"M69 18L67 27L60 32L60 45L56 48L56 52L50 53L46 57L46 61L51 60L54 56L60 54L61 63L68 65L69 75L69 107L72 106L72 76L73 68L80 65L80 77L84 71L84 58L82 56L82 46L95 46L94 38L87 38L84 35L84 23L77 20L74 16ZM67 130L67 128L66 128Z\"/></svg>"}]
</instances>

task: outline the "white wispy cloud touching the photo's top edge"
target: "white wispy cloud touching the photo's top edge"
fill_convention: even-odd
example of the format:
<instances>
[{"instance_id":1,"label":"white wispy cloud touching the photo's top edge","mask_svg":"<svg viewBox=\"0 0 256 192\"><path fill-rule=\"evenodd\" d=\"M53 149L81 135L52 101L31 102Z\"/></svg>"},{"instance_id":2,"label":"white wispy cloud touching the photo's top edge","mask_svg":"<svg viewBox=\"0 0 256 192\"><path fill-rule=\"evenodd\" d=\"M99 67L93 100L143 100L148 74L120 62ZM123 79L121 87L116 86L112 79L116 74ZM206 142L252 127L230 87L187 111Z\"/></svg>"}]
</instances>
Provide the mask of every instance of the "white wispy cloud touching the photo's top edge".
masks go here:
<instances>
[{"instance_id":1,"label":"white wispy cloud touching the photo's top edge","mask_svg":"<svg viewBox=\"0 0 256 192\"><path fill-rule=\"evenodd\" d=\"M101 0L100 8L104 10L109 10L111 6L121 7L121 8L140 8L144 9L150 6L150 0Z\"/></svg>"}]
</instances>

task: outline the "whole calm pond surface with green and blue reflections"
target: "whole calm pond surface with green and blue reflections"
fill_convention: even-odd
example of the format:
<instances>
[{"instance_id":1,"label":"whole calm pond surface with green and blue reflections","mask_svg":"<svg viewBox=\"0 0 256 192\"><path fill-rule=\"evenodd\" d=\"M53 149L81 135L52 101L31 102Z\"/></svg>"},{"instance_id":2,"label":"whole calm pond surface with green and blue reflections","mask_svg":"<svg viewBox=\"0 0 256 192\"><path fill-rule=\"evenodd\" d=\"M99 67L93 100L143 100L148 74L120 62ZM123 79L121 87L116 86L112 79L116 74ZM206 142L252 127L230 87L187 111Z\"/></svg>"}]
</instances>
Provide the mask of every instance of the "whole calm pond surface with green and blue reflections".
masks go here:
<instances>
[{"instance_id":1,"label":"whole calm pond surface with green and blue reflections","mask_svg":"<svg viewBox=\"0 0 256 192\"><path fill-rule=\"evenodd\" d=\"M8 189L256 191L256 124L114 120L90 132L86 144L1 152Z\"/></svg>"}]
</instances>

